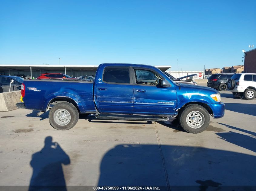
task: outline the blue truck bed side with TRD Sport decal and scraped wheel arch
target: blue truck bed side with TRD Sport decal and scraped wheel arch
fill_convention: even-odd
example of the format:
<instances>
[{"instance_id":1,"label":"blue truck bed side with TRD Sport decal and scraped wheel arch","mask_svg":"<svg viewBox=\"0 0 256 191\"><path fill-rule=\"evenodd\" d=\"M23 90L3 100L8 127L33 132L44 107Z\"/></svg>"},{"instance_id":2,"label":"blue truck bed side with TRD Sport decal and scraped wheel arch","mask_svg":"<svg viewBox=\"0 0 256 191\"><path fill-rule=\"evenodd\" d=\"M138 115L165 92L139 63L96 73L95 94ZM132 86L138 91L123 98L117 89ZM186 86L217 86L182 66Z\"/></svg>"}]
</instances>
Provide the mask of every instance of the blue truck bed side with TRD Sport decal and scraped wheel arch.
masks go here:
<instances>
[{"instance_id":1,"label":"blue truck bed side with TRD Sport decal and scraped wheel arch","mask_svg":"<svg viewBox=\"0 0 256 191\"><path fill-rule=\"evenodd\" d=\"M93 82L81 79L24 80L25 108L46 111L52 100L69 98L77 103L81 113L95 111Z\"/></svg>"}]
</instances>

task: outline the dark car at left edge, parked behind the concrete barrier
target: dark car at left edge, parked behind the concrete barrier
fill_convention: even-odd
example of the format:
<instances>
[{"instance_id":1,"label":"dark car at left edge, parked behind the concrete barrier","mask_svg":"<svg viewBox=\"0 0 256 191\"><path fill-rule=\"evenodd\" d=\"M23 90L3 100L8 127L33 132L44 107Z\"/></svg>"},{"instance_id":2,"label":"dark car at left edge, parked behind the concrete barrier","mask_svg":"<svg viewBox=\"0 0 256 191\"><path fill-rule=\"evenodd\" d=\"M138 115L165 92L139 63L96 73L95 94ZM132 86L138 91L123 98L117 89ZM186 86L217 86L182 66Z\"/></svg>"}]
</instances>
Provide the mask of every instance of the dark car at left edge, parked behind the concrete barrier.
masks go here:
<instances>
[{"instance_id":1,"label":"dark car at left edge, parked behind the concrete barrier","mask_svg":"<svg viewBox=\"0 0 256 191\"><path fill-rule=\"evenodd\" d=\"M10 89L10 83L13 80L11 84ZM23 82L23 78L17 77L17 76L0 76L0 93L2 92L8 92L10 91L17 91L21 90L21 84Z\"/></svg>"}]
</instances>

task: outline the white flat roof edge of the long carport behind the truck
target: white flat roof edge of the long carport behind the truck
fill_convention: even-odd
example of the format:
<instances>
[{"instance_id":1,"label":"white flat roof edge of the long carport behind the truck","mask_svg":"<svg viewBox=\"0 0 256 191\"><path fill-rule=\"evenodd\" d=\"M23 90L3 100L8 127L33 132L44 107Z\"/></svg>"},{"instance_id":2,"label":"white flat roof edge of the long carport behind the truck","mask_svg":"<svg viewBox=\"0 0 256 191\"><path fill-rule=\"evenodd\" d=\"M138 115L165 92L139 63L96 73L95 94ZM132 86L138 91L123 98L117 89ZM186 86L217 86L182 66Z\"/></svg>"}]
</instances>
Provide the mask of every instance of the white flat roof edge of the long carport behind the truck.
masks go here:
<instances>
[{"instance_id":1,"label":"white flat roof edge of the long carport behind the truck","mask_svg":"<svg viewBox=\"0 0 256 191\"><path fill-rule=\"evenodd\" d=\"M96 71L99 65L0 65L0 70L23 70L23 71L30 71L30 67L33 70L47 70L47 71L56 71L56 70L63 70L63 68L74 70L74 71ZM159 68L161 71L166 71L171 66L155 66Z\"/></svg>"}]
</instances>

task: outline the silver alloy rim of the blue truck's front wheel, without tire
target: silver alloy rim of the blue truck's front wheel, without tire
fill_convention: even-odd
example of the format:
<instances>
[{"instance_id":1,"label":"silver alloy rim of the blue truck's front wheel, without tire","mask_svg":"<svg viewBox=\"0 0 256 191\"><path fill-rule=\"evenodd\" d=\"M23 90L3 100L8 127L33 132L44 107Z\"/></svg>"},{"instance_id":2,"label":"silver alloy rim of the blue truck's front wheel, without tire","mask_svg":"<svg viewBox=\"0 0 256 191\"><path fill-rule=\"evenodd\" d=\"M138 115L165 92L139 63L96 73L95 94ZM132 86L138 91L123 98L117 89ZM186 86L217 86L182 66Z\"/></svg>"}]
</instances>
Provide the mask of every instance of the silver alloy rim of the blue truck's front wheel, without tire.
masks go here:
<instances>
[{"instance_id":1,"label":"silver alloy rim of the blue truck's front wheel, without tire","mask_svg":"<svg viewBox=\"0 0 256 191\"><path fill-rule=\"evenodd\" d=\"M200 111L192 111L188 113L186 122L189 127L198 129L204 125L204 115Z\"/></svg>"}]
</instances>

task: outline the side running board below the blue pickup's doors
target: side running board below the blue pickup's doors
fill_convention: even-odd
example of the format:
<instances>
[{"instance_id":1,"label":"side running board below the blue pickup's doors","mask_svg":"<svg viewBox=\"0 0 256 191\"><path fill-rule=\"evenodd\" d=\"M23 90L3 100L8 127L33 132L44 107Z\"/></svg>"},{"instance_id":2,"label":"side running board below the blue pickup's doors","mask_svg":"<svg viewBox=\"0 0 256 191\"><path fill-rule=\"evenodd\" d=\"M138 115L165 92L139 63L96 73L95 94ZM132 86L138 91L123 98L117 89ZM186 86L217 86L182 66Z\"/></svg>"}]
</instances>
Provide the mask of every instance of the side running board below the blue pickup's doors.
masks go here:
<instances>
[{"instance_id":1,"label":"side running board below the blue pickup's doors","mask_svg":"<svg viewBox=\"0 0 256 191\"><path fill-rule=\"evenodd\" d=\"M108 115L95 114L97 119L133 120L133 121L168 121L169 117L159 116L138 116L138 115Z\"/></svg>"}]
</instances>

